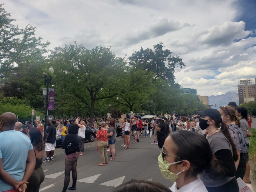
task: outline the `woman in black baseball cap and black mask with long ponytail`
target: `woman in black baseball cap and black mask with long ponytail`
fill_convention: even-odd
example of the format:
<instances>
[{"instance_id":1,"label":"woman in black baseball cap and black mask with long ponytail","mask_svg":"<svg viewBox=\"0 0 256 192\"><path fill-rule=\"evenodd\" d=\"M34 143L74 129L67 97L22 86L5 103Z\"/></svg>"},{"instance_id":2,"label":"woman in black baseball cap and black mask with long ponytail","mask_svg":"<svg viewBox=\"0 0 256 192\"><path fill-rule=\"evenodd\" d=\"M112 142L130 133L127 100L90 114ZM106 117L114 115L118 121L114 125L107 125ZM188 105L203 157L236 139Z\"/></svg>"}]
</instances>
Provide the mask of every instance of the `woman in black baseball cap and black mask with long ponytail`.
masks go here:
<instances>
[{"instance_id":1,"label":"woman in black baseball cap and black mask with long ponytail","mask_svg":"<svg viewBox=\"0 0 256 192\"><path fill-rule=\"evenodd\" d=\"M205 111L196 111L196 113L201 115L199 126L202 130L207 130L211 151L214 153L218 162L220 162L219 166L223 170L223 174L216 179L212 179L204 171L200 175L200 179L206 186L208 192L238 192L239 187L235 177L236 167L234 164L238 159L238 155L228 128L222 122L220 112L216 109L207 109ZM220 123L221 130L218 129Z\"/></svg>"}]
</instances>

